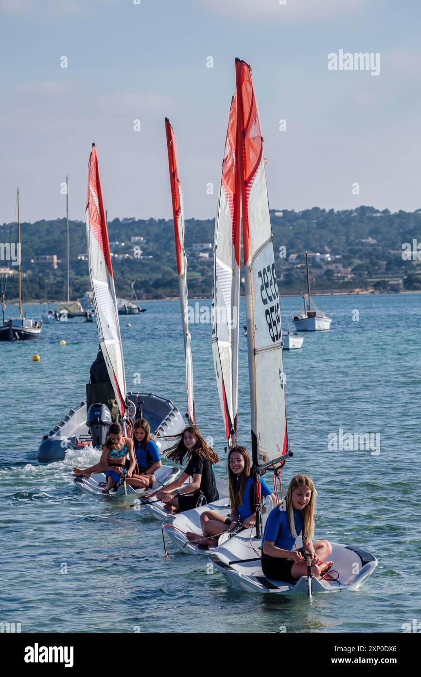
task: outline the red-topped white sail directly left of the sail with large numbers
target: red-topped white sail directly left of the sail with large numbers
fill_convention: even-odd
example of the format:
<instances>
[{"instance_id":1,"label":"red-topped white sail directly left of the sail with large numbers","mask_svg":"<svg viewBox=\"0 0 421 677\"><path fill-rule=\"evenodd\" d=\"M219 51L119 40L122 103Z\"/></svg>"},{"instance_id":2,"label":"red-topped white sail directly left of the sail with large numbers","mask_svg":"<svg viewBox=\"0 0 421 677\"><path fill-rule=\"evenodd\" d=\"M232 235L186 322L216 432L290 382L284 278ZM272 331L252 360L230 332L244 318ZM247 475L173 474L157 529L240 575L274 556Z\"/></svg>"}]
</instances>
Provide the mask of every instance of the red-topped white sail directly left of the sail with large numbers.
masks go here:
<instances>
[{"instance_id":1,"label":"red-topped white sail directly left of the sail with large numbers","mask_svg":"<svg viewBox=\"0 0 421 677\"><path fill-rule=\"evenodd\" d=\"M237 439L240 301L240 185L237 95L232 97L215 221L212 351L228 443Z\"/></svg>"}]
</instances>

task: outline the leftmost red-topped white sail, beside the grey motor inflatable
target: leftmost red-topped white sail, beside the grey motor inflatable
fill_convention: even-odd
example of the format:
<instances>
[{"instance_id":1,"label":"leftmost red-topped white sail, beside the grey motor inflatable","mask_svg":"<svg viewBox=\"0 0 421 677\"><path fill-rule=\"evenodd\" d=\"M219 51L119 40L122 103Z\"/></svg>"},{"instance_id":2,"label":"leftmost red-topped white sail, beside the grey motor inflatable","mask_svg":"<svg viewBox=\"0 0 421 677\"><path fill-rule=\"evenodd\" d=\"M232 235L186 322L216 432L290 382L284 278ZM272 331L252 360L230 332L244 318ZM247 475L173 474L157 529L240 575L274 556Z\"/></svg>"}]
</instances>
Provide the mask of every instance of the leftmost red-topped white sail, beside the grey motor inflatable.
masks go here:
<instances>
[{"instance_id":1,"label":"leftmost red-topped white sail, beside the grey motor inflatable","mask_svg":"<svg viewBox=\"0 0 421 677\"><path fill-rule=\"evenodd\" d=\"M97 149L93 144L88 167L88 194L86 197L86 236L88 238L89 277L95 318L97 318L99 344L103 353L109 378L116 395L122 418L126 412L126 376L116 290L109 242L107 221L99 179Z\"/></svg>"}]
</instances>

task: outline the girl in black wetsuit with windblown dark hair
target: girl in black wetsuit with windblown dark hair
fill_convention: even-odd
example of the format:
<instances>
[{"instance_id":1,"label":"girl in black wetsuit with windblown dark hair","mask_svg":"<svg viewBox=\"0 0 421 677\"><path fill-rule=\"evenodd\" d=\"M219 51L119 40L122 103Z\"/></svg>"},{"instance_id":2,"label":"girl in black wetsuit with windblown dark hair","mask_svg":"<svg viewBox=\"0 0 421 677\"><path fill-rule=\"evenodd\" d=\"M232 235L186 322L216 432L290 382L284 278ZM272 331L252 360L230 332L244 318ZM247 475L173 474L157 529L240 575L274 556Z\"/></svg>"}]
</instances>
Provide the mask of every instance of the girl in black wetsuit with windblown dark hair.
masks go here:
<instances>
[{"instance_id":1,"label":"girl in black wetsuit with windblown dark hair","mask_svg":"<svg viewBox=\"0 0 421 677\"><path fill-rule=\"evenodd\" d=\"M187 456L189 463L174 482L149 495L149 498L156 496L161 500L170 512L182 512L196 508L198 504L218 500L213 464L219 462L219 456L209 447L196 426L187 427L177 437L178 442L170 447L167 458L182 464ZM189 477L193 481L181 487Z\"/></svg>"}]
</instances>

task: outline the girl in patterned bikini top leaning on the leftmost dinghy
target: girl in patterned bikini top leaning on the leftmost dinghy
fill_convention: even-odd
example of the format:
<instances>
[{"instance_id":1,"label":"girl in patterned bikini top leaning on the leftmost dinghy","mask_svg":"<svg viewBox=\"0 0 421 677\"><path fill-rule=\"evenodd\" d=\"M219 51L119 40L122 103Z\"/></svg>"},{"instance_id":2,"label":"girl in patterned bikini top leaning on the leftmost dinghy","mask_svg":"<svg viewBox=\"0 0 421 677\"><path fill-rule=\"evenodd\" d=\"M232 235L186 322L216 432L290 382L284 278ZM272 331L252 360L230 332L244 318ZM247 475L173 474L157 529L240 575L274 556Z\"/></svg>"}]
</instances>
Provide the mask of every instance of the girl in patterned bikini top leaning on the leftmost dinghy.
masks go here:
<instances>
[{"instance_id":1,"label":"girl in patterned bikini top leaning on the leftmost dinghy","mask_svg":"<svg viewBox=\"0 0 421 677\"><path fill-rule=\"evenodd\" d=\"M109 489L117 487L126 463L126 457L129 457L130 467L133 466L134 468L136 463L133 441L130 437L124 437L123 433L120 423L112 423L108 430L107 439L102 445L99 462L90 468L73 468L73 474L77 477L91 477L93 473L105 473L107 486L103 489L103 494L108 494ZM132 471L129 469L127 477L131 476Z\"/></svg>"}]
</instances>

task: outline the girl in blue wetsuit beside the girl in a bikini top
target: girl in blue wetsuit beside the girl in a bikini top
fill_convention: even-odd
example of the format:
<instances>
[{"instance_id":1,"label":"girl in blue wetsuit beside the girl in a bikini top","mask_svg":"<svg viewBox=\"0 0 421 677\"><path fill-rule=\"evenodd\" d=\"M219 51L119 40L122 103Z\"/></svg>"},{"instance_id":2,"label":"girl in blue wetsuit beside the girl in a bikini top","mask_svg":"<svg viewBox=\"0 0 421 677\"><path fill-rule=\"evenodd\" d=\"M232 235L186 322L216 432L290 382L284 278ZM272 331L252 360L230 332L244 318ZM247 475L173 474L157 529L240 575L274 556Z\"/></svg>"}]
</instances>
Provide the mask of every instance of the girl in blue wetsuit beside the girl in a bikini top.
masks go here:
<instances>
[{"instance_id":1,"label":"girl in blue wetsuit beside the girl in a bikini top","mask_svg":"<svg viewBox=\"0 0 421 677\"><path fill-rule=\"evenodd\" d=\"M157 469L162 466L158 447L151 439L151 427L146 418L138 418L134 423L134 462L126 461L126 468L132 473L127 484L136 489L148 489L156 482Z\"/></svg>"}]
</instances>

